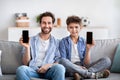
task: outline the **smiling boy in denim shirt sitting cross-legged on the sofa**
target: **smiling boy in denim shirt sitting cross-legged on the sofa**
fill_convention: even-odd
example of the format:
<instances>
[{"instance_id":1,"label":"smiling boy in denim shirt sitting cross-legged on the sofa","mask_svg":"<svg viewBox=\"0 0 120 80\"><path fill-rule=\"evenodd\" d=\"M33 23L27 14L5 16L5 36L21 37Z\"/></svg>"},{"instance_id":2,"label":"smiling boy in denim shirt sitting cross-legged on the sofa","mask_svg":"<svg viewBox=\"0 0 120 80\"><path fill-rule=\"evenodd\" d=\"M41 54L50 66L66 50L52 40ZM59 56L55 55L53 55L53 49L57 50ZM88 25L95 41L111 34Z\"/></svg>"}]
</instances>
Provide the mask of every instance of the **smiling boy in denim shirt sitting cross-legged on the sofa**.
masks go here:
<instances>
[{"instance_id":1,"label":"smiling boy in denim shirt sitting cross-legged on the sofa","mask_svg":"<svg viewBox=\"0 0 120 80\"><path fill-rule=\"evenodd\" d=\"M81 19L78 16L69 16L66 24L70 35L60 41L59 50L62 59L59 63L64 65L66 71L72 73L71 76L76 80L80 78L78 74L84 78L108 77L110 72L106 69L111 65L108 57L101 58L95 64L90 63L90 49L95 43L92 41L92 44L86 44L86 41L79 36L82 29Z\"/></svg>"}]
</instances>

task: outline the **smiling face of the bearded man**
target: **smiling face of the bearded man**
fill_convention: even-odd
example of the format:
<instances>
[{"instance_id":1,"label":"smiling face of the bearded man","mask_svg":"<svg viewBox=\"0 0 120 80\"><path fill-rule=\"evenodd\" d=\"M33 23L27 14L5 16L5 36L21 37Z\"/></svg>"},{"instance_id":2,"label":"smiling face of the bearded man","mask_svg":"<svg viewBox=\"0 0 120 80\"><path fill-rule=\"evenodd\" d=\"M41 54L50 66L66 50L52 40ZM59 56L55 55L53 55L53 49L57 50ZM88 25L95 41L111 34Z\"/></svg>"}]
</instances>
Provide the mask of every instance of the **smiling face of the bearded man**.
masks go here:
<instances>
[{"instance_id":1,"label":"smiling face of the bearded man","mask_svg":"<svg viewBox=\"0 0 120 80\"><path fill-rule=\"evenodd\" d=\"M43 17L40 26L42 33L49 34L53 27L52 18L49 16Z\"/></svg>"}]
</instances>

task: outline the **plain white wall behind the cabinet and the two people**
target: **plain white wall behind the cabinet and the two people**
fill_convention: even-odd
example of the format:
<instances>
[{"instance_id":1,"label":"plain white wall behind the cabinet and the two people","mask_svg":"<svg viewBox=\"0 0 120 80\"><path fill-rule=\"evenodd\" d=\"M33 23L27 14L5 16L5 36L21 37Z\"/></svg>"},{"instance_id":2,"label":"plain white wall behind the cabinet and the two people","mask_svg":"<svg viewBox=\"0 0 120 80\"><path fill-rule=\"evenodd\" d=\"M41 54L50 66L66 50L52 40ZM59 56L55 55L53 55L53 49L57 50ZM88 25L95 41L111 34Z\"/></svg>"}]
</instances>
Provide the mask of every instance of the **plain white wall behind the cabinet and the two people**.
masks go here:
<instances>
[{"instance_id":1,"label":"plain white wall behind the cabinet and the two people","mask_svg":"<svg viewBox=\"0 0 120 80\"><path fill-rule=\"evenodd\" d=\"M109 28L110 37L120 34L119 0L0 0L0 40L7 40L7 28L15 26L15 13L26 12L30 26L37 27L36 16L44 11L51 11L56 18L65 19L70 15L87 16L90 26Z\"/></svg>"}]
</instances>

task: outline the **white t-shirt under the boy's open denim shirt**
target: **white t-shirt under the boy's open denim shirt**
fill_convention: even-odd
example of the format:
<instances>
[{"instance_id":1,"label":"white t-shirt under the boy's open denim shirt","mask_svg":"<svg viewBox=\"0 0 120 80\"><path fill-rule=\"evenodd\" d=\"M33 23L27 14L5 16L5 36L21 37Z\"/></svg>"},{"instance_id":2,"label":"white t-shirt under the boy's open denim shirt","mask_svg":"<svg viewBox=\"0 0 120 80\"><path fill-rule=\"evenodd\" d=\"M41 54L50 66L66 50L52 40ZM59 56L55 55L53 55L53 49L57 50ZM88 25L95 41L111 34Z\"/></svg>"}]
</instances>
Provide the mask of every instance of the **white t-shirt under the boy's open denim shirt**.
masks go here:
<instances>
[{"instance_id":1,"label":"white t-shirt under the boy's open denim shirt","mask_svg":"<svg viewBox=\"0 0 120 80\"><path fill-rule=\"evenodd\" d=\"M77 44L72 42L72 51L71 51L71 61L75 63L76 61L80 61Z\"/></svg>"}]
</instances>

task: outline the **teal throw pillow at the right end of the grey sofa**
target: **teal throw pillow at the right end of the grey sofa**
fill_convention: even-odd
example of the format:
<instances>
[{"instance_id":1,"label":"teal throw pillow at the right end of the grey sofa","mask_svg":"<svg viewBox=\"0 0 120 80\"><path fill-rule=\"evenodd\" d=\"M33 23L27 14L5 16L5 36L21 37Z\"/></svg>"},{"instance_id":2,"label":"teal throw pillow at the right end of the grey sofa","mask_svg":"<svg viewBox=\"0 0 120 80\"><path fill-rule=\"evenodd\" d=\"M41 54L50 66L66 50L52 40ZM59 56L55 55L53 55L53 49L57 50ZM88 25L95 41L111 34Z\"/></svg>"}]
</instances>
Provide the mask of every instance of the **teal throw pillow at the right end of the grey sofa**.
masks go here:
<instances>
[{"instance_id":1,"label":"teal throw pillow at the right end of the grey sofa","mask_svg":"<svg viewBox=\"0 0 120 80\"><path fill-rule=\"evenodd\" d=\"M120 73L120 43L118 44L116 52L115 52L113 64L111 67L111 72Z\"/></svg>"}]
</instances>

